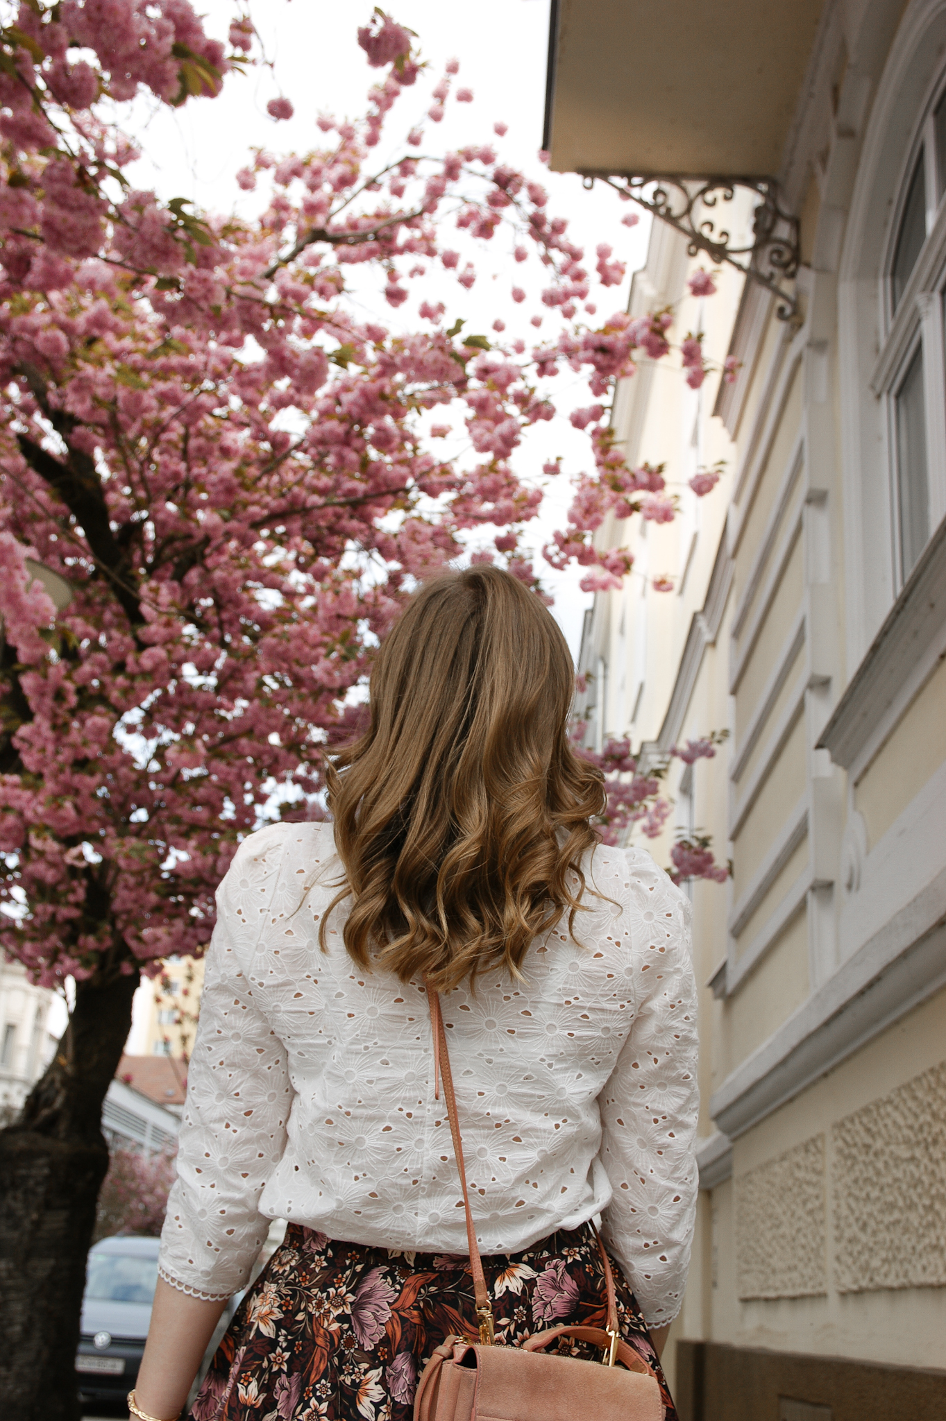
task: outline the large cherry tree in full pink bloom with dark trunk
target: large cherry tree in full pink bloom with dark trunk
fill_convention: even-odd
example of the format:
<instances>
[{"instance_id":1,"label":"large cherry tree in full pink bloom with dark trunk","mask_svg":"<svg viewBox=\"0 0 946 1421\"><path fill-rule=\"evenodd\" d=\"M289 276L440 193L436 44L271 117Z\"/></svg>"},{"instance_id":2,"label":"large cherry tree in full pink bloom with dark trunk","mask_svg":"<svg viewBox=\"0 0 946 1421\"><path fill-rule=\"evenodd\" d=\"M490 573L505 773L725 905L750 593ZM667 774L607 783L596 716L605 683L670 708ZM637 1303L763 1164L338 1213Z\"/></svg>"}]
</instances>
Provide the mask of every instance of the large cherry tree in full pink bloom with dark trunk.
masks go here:
<instances>
[{"instance_id":1,"label":"large cherry tree in full pink bloom with dark trunk","mask_svg":"<svg viewBox=\"0 0 946 1421\"><path fill-rule=\"evenodd\" d=\"M632 558L595 546L604 517L673 517L662 472L628 469L604 414L635 357L669 354L670 313L584 324L582 250L493 144L428 156L415 129L372 165L426 78L412 38L375 13L365 117L320 119L307 153L256 152L239 182L264 200L237 220L135 189L115 105L213 97L253 55L249 17L227 50L187 0L30 0L0 34L0 942L37 980L75 983L60 1050L0 1134L0 1387L17 1417L78 1414L101 1104L141 972L206 948L243 836L321 814L324 757L357 730L372 649L418 578L476 533L491 544L474 557L541 594L524 549L543 495L516 450L554 416L558 369L597 401L571 416L594 470L548 561L616 587ZM436 77L430 124L467 95L456 72ZM558 334L527 350L428 301L422 328L393 327L432 267L473 284L450 242L506 242L510 270L538 260ZM601 246L597 284L622 274ZM369 280L391 325L351 297ZM683 357L687 378L706 372ZM64 608L37 563L68 584ZM643 800L663 813L629 749L609 756L626 821Z\"/></svg>"}]
</instances>

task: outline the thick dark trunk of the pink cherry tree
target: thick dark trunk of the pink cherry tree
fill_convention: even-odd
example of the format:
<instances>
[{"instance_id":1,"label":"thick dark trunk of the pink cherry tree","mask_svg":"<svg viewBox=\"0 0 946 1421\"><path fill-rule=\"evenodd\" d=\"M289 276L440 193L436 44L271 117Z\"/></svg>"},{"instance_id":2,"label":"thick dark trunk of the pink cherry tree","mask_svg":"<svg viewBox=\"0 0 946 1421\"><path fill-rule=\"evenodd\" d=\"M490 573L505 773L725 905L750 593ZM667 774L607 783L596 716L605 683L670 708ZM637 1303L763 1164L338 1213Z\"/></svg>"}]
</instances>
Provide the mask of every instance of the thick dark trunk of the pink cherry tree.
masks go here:
<instances>
[{"instance_id":1,"label":"thick dark trunk of the pink cherry tree","mask_svg":"<svg viewBox=\"0 0 946 1421\"><path fill-rule=\"evenodd\" d=\"M4 1421L78 1421L75 1349L108 1147L102 1101L138 973L78 983L57 1054L0 1131L0 1397Z\"/></svg>"}]
</instances>

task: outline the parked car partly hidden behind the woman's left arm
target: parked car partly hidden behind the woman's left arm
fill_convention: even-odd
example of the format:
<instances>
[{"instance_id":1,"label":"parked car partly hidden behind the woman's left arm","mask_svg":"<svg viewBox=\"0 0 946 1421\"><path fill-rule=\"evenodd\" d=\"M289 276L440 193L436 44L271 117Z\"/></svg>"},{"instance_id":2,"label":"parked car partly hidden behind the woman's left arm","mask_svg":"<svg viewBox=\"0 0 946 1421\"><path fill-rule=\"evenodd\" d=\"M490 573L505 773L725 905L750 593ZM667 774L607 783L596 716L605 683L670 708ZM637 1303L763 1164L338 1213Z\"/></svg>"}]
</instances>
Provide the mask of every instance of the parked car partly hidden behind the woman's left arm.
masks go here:
<instances>
[{"instance_id":1,"label":"parked car partly hidden behind the woman's left arm","mask_svg":"<svg viewBox=\"0 0 946 1421\"><path fill-rule=\"evenodd\" d=\"M158 1286L161 1239L118 1235L88 1255L75 1371L82 1401L124 1401L135 1385Z\"/></svg>"}]
</instances>

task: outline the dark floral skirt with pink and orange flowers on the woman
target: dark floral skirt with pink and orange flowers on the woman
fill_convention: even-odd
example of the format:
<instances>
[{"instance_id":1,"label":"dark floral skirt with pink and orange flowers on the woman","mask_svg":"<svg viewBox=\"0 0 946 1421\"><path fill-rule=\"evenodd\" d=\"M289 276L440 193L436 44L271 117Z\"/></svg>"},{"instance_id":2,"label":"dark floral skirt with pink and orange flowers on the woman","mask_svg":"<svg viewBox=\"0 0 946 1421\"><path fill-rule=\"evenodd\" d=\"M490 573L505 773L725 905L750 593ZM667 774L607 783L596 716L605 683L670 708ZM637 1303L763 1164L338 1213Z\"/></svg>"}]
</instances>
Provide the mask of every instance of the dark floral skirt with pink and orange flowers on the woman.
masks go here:
<instances>
[{"instance_id":1,"label":"dark floral skirt with pink and orange flowers on the woman","mask_svg":"<svg viewBox=\"0 0 946 1421\"><path fill-rule=\"evenodd\" d=\"M646 1324L612 1263L621 1331L676 1411ZM605 1280L589 1223L483 1259L496 1341L555 1323L604 1327ZM418 1377L450 1333L477 1337L470 1260L339 1243L290 1223L234 1313L190 1421L411 1421ZM560 1351L597 1360L582 1343Z\"/></svg>"}]
</instances>

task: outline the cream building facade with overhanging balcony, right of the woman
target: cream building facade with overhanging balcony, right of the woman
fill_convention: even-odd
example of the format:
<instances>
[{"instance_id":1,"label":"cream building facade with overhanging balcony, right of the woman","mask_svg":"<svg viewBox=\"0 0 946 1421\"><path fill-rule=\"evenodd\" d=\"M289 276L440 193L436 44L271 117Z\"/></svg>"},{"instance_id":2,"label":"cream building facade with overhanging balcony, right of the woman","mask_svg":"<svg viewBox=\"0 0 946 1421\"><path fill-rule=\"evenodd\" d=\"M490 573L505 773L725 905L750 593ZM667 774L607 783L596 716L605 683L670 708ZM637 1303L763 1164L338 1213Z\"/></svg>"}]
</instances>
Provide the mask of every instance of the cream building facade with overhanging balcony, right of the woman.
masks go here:
<instances>
[{"instance_id":1,"label":"cream building facade with overhanging balcony, right of the woman","mask_svg":"<svg viewBox=\"0 0 946 1421\"><path fill-rule=\"evenodd\" d=\"M665 763L730 732L670 760L655 845L732 860L689 885L702 1191L669 1367L682 1421L946 1415L946 0L656 9L553 6L551 166L771 175L800 230L783 320L727 264L692 297L713 261L655 220L632 314L672 306L739 371L618 389L680 516L599 530L635 568L581 649L595 742Z\"/></svg>"}]
</instances>

